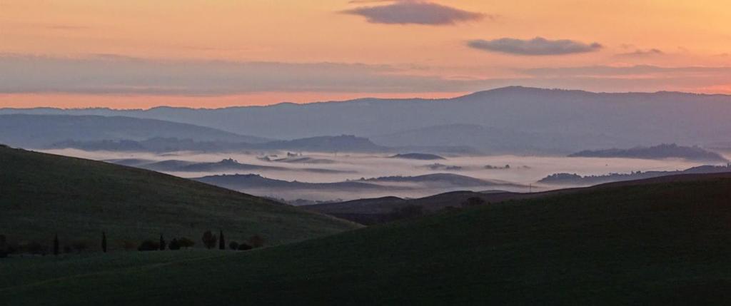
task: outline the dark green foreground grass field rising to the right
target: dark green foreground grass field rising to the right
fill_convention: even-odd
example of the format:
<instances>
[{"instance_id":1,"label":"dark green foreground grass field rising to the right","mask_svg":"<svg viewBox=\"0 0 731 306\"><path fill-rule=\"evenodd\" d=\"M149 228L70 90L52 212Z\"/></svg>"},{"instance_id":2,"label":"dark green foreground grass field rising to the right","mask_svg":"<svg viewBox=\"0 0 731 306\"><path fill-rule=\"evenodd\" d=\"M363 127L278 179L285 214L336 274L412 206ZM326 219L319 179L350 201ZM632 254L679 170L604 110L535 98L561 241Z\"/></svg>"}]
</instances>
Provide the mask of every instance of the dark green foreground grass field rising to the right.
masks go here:
<instances>
[{"instance_id":1,"label":"dark green foreground grass field rising to the right","mask_svg":"<svg viewBox=\"0 0 731 306\"><path fill-rule=\"evenodd\" d=\"M471 207L249 252L0 263L7 305L728 305L731 175Z\"/></svg>"}]
</instances>

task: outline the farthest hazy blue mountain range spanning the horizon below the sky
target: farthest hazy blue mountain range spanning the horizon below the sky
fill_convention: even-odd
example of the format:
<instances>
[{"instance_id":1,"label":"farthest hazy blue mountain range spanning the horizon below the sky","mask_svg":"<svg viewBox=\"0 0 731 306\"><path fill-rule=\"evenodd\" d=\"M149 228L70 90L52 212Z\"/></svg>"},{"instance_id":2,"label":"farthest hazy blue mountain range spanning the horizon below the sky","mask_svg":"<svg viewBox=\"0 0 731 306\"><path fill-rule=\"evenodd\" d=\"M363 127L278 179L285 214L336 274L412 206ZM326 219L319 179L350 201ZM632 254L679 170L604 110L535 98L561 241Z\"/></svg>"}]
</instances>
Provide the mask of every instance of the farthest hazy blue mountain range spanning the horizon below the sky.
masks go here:
<instances>
[{"instance_id":1,"label":"farthest hazy blue mountain range spanning the horizon below the sky","mask_svg":"<svg viewBox=\"0 0 731 306\"><path fill-rule=\"evenodd\" d=\"M698 107L699 104L702 107ZM276 139L354 134L398 142L406 138L397 137L398 133L427 129L425 134L428 134L429 129L437 129L431 127L458 124L477 131L491 129L489 134L494 136L471 133L474 137L460 137L457 131L463 131L465 126L455 131L439 128L442 130L440 137L414 138L410 145L444 145L447 142L483 150L510 149L527 153L630 148L649 141L707 145L728 141L731 133L731 121L727 120L731 114L731 96L675 92L591 93L523 87L498 88L453 99L356 99L215 110L174 107L0 110L0 113L23 112L156 118ZM514 140L525 138L531 139L525 147ZM545 139L558 139L561 145L556 146Z\"/></svg>"}]
</instances>

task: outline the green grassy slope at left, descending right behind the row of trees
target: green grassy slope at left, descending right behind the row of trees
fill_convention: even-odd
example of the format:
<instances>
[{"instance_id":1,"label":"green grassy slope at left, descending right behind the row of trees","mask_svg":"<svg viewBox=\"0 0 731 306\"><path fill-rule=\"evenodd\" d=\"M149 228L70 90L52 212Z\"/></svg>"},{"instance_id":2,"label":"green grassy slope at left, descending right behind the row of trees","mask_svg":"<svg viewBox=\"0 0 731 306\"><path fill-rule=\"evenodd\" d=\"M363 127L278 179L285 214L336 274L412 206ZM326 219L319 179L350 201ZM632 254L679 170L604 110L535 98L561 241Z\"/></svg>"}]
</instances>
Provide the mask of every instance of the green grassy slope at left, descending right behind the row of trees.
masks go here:
<instances>
[{"instance_id":1,"label":"green grassy slope at left, descending right behind the row of trees","mask_svg":"<svg viewBox=\"0 0 731 306\"><path fill-rule=\"evenodd\" d=\"M0 147L0 234L11 242L61 244L75 240L99 248L122 240L189 237L224 230L229 240L259 234L268 244L306 240L357 228L309 213L143 169Z\"/></svg>"}]
</instances>

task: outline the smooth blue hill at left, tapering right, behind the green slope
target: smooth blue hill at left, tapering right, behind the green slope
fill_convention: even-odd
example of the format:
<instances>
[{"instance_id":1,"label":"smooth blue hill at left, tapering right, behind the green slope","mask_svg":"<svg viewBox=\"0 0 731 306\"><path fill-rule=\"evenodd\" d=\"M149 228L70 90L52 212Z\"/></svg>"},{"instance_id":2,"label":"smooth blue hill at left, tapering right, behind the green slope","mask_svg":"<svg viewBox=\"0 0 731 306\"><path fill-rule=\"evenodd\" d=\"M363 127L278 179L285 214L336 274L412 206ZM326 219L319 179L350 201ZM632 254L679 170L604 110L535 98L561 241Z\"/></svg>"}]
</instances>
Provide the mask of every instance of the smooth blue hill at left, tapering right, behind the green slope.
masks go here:
<instances>
[{"instance_id":1,"label":"smooth blue hill at left, tapering right, behind the green slope","mask_svg":"<svg viewBox=\"0 0 731 306\"><path fill-rule=\"evenodd\" d=\"M135 147L135 141L154 137L229 142L266 140L186 123L96 115L0 115L0 131L0 142L23 148L46 148L67 140L124 140L129 142L116 145Z\"/></svg>"}]
</instances>

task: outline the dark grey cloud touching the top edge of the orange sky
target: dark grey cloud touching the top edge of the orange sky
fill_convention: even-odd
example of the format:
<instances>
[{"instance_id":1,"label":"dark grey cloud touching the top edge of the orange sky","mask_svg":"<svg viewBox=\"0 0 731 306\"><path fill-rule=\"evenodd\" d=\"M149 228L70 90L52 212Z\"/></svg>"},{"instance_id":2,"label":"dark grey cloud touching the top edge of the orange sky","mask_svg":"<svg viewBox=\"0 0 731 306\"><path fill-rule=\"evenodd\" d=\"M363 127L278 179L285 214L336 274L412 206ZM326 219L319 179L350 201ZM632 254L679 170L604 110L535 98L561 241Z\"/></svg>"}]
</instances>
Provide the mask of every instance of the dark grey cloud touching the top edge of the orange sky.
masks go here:
<instances>
[{"instance_id":1,"label":"dark grey cloud touching the top edge of the orange sky","mask_svg":"<svg viewBox=\"0 0 731 306\"><path fill-rule=\"evenodd\" d=\"M432 26L453 25L458 22L480 20L488 16L479 12L468 12L425 1L395 1L392 4L377 7L357 7L343 12L363 16L369 23Z\"/></svg>"}]
</instances>

